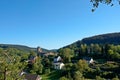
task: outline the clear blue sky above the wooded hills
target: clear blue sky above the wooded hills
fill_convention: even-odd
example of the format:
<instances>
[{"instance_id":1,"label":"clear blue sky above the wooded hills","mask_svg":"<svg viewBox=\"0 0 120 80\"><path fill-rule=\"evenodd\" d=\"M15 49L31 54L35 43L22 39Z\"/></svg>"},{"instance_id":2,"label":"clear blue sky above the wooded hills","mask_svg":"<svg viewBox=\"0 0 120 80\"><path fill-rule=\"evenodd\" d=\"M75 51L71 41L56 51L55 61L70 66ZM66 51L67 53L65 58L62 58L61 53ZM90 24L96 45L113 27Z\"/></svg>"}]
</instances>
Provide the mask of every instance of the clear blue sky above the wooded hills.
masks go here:
<instances>
[{"instance_id":1,"label":"clear blue sky above the wooded hills","mask_svg":"<svg viewBox=\"0 0 120 80\"><path fill-rule=\"evenodd\" d=\"M0 44L58 49L120 32L120 5L91 9L90 0L0 0Z\"/></svg>"}]
</instances>

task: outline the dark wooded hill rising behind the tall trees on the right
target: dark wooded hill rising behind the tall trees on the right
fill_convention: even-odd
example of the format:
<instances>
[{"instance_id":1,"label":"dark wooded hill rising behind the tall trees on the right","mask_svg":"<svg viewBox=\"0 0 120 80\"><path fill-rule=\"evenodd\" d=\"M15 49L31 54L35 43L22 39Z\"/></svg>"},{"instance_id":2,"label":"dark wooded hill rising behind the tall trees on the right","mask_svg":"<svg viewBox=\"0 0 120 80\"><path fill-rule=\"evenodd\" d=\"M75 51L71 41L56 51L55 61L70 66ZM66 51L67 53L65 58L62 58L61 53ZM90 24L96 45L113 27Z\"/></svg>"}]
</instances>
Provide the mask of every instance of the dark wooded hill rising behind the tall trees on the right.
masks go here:
<instances>
[{"instance_id":1,"label":"dark wooded hill rising behind the tall trees on the right","mask_svg":"<svg viewBox=\"0 0 120 80\"><path fill-rule=\"evenodd\" d=\"M120 44L120 32L96 35L76 41L66 47L79 47L81 44Z\"/></svg>"}]
</instances>

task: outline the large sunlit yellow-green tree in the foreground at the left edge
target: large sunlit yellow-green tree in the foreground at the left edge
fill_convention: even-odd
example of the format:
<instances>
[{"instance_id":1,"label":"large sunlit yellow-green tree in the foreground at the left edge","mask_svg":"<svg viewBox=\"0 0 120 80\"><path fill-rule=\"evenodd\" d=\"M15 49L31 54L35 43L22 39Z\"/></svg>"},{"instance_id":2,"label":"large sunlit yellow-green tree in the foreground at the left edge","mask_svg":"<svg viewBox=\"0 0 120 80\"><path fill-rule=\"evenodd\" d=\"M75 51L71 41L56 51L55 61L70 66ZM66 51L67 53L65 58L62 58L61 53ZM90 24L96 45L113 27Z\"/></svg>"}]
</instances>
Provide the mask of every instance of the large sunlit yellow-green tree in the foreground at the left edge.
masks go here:
<instances>
[{"instance_id":1,"label":"large sunlit yellow-green tree in the foreground at the left edge","mask_svg":"<svg viewBox=\"0 0 120 80\"><path fill-rule=\"evenodd\" d=\"M18 49L0 49L0 80L21 80L20 72L26 63L21 62ZM23 80L23 79L22 79Z\"/></svg>"}]
</instances>

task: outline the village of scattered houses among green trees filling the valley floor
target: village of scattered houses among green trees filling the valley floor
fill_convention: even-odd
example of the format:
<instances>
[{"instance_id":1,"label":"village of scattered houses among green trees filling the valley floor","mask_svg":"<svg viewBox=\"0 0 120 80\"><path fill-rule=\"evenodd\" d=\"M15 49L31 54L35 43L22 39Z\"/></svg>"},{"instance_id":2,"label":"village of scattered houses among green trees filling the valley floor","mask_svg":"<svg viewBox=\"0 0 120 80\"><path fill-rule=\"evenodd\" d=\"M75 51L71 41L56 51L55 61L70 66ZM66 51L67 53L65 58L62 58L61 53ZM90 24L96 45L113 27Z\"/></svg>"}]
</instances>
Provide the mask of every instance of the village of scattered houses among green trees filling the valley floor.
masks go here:
<instances>
[{"instance_id":1,"label":"village of scattered houses among green trees filling the valley floor","mask_svg":"<svg viewBox=\"0 0 120 80\"><path fill-rule=\"evenodd\" d=\"M111 45L111 47L119 49L119 46ZM104 57L105 53L100 54L98 50L97 47L87 48L86 45L81 45L80 50L74 51L70 48L45 51L37 47L27 53L16 48L0 48L2 65L0 79L6 80L9 77L21 80L118 79L119 57L107 58Z\"/></svg>"}]
</instances>

